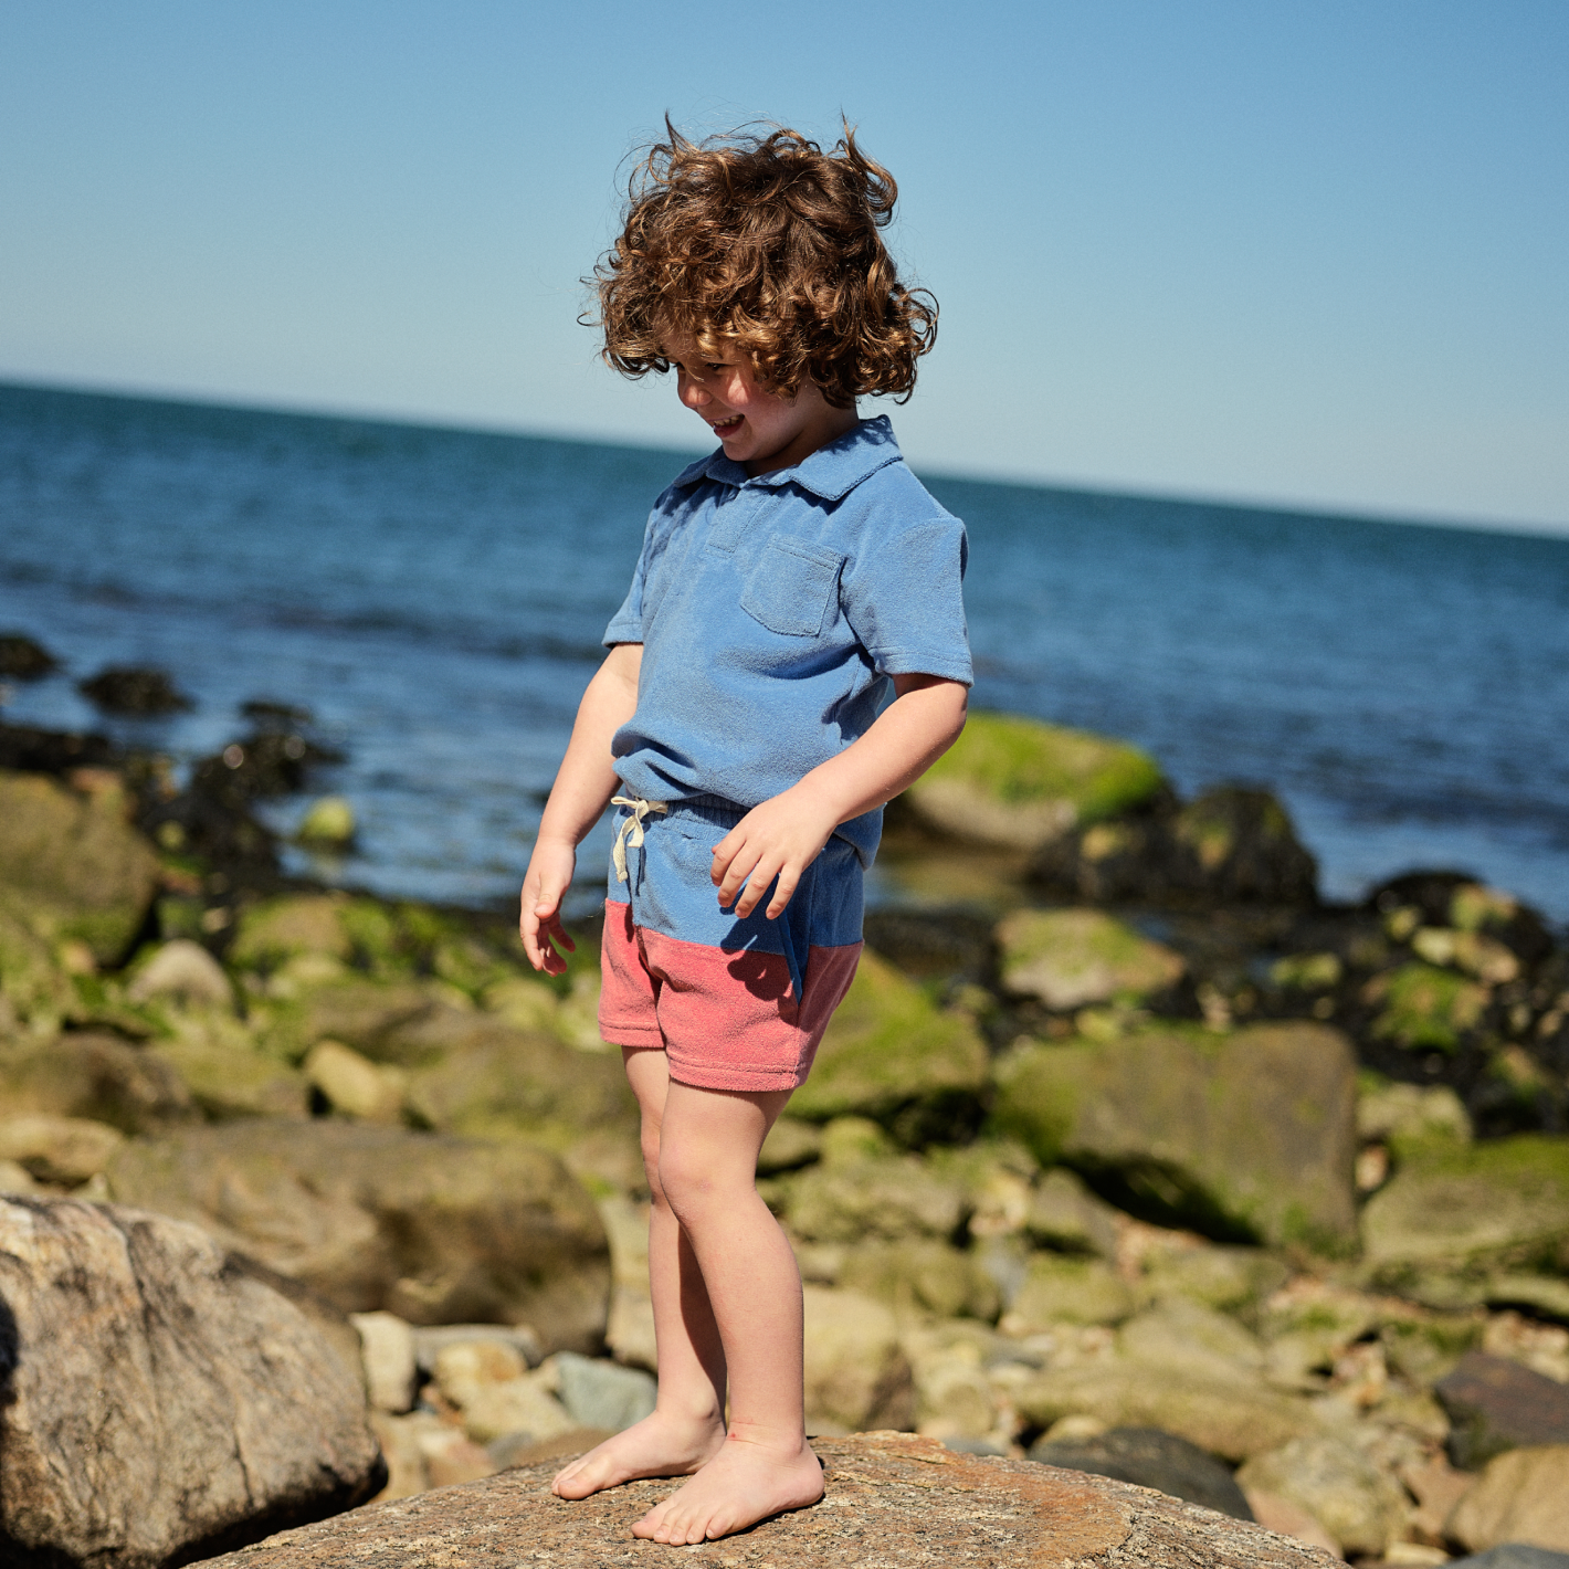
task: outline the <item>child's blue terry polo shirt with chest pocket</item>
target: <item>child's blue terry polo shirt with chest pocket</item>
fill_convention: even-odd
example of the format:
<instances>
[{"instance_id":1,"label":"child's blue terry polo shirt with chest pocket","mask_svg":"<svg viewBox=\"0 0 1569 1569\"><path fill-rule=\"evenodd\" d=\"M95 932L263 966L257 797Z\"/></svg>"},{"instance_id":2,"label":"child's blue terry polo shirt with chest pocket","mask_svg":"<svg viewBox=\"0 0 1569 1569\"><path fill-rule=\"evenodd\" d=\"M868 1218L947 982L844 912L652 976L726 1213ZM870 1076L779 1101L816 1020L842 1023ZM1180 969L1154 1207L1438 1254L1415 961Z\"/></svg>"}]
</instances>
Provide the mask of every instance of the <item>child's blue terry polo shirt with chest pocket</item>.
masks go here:
<instances>
[{"instance_id":1,"label":"child's blue terry polo shirt with chest pocket","mask_svg":"<svg viewBox=\"0 0 1569 1569\"><path fill-rule=\"evenodd\" d=\"M968 544L886 417L750 479L723 449L654 502L604 642L642 643L637 711L610 745L645 800L750 810L872 725L890 676L973 681ZM869 866L882 808L841 824Z\"/></svg>"}]
</instances>

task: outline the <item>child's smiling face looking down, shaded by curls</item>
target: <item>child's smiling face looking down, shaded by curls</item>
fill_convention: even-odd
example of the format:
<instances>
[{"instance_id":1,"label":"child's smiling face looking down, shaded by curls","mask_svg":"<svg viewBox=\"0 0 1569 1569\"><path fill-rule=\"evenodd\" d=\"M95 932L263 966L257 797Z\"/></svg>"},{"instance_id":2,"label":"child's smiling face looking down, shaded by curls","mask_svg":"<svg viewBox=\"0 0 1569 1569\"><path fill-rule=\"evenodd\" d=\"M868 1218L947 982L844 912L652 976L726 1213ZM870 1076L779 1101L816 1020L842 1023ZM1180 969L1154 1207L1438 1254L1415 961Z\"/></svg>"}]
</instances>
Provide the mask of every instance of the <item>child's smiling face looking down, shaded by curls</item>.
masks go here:
<instances>
[{"instance_id":1,"label":"child's smiling face looking down, shaded by curls","mask_svg":"<svg viewBox=\"0 0 1569 1569\"><path fill-rule=\"evenodd\" d=\"M665 358L676 367L681 402L719 436L725 457L753 477L800 463L857 422L854 408L833 408L814 381L794 397L769 392L741 350L726 347L714 359L690 337L675 336Z\"/></svg>"}]
</instances>

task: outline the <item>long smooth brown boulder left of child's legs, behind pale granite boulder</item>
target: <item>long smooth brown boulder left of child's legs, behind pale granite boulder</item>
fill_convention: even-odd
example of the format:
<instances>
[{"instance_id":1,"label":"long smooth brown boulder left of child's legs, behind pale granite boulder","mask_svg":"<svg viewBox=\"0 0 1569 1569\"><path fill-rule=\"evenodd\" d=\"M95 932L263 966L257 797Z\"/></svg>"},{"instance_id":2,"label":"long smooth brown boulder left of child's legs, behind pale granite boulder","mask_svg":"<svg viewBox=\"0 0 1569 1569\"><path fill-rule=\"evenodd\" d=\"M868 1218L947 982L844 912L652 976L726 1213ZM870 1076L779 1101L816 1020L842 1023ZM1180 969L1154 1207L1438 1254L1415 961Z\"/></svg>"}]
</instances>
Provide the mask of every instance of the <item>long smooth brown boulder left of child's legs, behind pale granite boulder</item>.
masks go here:
<instances>
[{"instance_id":1,"label":"long smooth brown boulder left of child's legs, behind pale granite boulder","mask_svg":"<svg viewBox=\"0 0 1569 1569\"><path fill-rule=\"evenodd\" d=\"M551 1349L596 1351L604 1335L604 1229L537 1145L235 1122L130 1142L108 1183L116 1199L207 1225L345 1312L527 1323Z\"/></svg>"}]
</instances>

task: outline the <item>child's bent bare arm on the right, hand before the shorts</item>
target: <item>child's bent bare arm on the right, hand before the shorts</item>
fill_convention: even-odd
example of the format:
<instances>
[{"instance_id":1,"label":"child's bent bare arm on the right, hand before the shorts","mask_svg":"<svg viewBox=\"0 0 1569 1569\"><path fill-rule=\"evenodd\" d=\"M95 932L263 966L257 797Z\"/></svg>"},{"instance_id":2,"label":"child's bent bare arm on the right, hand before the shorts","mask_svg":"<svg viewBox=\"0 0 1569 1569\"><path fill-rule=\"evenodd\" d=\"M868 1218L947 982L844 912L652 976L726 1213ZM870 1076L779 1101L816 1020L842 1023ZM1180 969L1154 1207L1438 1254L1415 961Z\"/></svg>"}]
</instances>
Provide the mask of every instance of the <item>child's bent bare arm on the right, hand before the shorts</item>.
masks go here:
<instances>
[{"instance_id":1,"label":"child's bent bare arm on the right, hand before the shorts","mask_svg":"<svg viewBox=\"0 0 1569 1569\"><path fill-rule=\"evenodd\" d=\"M968 687L921 675L894 676L893 686L894 701L860 741L799 784L753 806L719 841L712 877L725 908L739 893L736 915L752 915L778 877L764 912L772 921L841 822L893 800L959 739Z\"/></svg>"}]
</instances>

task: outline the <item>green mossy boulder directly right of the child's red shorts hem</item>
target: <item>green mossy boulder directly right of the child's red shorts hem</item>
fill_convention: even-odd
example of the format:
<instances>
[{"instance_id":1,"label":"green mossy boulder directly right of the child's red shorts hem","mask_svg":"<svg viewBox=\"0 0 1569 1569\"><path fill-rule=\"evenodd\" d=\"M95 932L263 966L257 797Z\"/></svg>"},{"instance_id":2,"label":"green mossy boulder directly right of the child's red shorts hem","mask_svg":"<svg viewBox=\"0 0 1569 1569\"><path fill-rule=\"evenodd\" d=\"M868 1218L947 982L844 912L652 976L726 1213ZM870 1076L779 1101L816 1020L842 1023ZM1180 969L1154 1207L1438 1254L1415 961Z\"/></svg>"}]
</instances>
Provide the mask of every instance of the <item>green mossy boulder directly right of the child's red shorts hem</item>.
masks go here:
<instances>
[{"instance_id":1,"label":"green mossy boulder directly right of the child's red shorts hem","mask_svg":"<svg viewBox=\"0 0 1569 1569\"><path fill-rule=\"evenodd\" d=\"M988 1067L970 1017L935 1007L913 981L863 951L791 1114L874 1117L912 1144L952 1138L979 1122Z\"/></svg>"}]
</instances>

